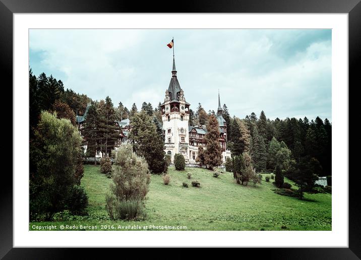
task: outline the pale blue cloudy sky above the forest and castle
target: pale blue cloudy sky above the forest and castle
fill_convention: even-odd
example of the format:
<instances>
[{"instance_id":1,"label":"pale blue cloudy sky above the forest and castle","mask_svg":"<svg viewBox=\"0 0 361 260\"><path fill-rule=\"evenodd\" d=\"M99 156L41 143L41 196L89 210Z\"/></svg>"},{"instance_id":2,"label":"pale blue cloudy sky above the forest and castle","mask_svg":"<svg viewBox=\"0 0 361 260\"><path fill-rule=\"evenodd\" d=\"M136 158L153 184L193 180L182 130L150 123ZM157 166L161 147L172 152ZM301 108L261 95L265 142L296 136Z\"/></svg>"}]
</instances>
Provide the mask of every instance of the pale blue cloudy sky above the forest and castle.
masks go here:
<instances>
[{"instance_id":1,"label":"pale blue cloudy sky above the forest and castle","mask_svg":"<svg viewBox=\"0 0 361 260\"><path fill-rule=\"evenodd\" d=\"M163 102L175 65L196 110L331 118L331 30L32 29L30 68L93 100Z\"/></svg>"}]
</instances>

